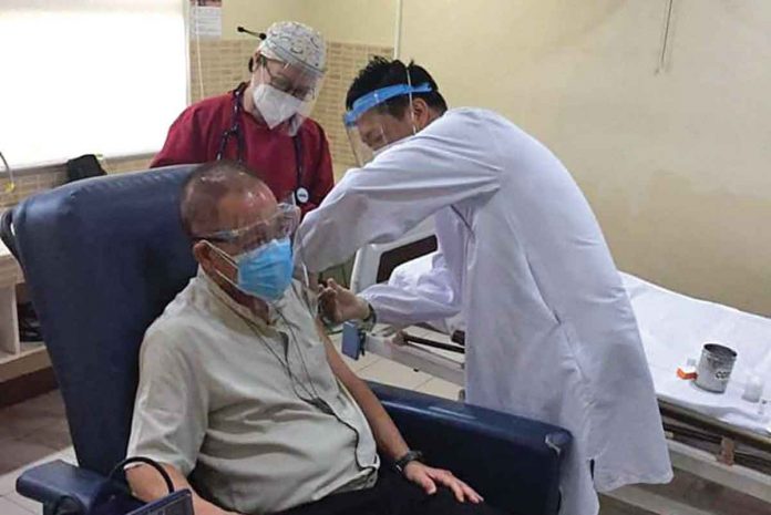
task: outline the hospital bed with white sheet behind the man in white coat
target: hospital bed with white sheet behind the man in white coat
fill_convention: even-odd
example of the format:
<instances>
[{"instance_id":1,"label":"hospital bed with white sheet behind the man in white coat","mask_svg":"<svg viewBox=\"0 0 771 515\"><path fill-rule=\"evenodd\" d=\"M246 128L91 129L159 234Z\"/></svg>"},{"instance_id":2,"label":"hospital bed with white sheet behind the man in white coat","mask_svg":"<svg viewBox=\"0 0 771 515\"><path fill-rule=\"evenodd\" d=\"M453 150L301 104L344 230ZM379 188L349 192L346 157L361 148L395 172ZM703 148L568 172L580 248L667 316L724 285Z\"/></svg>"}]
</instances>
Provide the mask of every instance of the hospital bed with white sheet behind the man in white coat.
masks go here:
<instances>
[{"instance_id":1,"label":"hospital bed with white sheet behind the man in white coat","mask_svg":"<svg viewBox=\"0 0 771 515\"><path fill-rule=\"evenodd\" d=\"M430 220L397 243L369 245L356 256L351 287L361 291L387 280L410 284L430 267L425 253L435 248ZM771 405L742 399L751 372L764 378L764 395L771 398L771 319L693 299L628 274L621 277L638 319L672 464L679 475L669 490L631 486L610 495L662 515L723 513L719 511L721 504L729 505L724 513L730 514L771 513ZM431 330L428 334L426 328ZM380 326L364 334L347 325L343 349L349 357L357 357L363 349L463 387L466 342L460 317L407 328L401 333L398 329L403 328ZM701 346L710 341L730 346L739 353L724 394L702 391L676 374L689 358L698 360ZM683 504L683 497L692 497L689 491L695 485L706 493L691 498L692 506ZM733 492L738 494L732 496ZM746 509L736 512L736 503L744 503Z\"/></svg>"}]
</instances>

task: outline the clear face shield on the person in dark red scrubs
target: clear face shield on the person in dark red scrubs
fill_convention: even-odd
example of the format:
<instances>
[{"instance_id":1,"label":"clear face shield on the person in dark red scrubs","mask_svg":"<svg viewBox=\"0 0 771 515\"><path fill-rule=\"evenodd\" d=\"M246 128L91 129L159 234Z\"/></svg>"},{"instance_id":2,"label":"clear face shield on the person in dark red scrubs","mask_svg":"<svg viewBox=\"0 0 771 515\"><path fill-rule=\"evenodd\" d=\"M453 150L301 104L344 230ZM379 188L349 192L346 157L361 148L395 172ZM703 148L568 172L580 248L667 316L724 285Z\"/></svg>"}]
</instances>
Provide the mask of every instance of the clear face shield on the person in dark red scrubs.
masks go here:
<instances>
[{"instance_id":1,"label":"clear face shield on the person in dark red scrubs","mask_svg":"<svg viewBox=\"0 0 771 515\"><path fill-rule=\"evenodd\" d=\"M310 116L323 72L260 55L251 75L255 107L270 130L294 136Z\"/></svg>"}]
</instances>

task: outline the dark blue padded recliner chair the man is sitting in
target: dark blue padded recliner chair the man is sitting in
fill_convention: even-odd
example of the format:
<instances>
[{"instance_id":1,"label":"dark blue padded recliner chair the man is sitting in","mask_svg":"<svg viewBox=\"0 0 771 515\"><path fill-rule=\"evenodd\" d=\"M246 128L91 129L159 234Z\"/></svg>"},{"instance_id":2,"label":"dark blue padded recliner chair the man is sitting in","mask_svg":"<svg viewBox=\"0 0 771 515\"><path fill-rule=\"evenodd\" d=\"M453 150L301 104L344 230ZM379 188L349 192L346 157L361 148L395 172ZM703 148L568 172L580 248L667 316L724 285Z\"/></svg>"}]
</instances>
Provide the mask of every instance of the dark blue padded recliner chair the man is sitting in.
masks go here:
<instances>
[{"instance_id":1,"label":"dark blue padded recliner chair the man is sitting in","mask_svg":"<svg viewBox=\"0 0 771 515\"><path fill-rule=\"evenodd\" d=\"M80 467L27 471L21 495L44 513L117 515L140 505L105 475L125 456L145 329L196 270L177 214L189 166L100 177L31 197L12 213ZM558 509L566 431L397 388L372 385L407 440L514 514ZM115 503L121 497L122 503ZM122 507L117 507L122 506Z\"/></svg>"}]
</instances>

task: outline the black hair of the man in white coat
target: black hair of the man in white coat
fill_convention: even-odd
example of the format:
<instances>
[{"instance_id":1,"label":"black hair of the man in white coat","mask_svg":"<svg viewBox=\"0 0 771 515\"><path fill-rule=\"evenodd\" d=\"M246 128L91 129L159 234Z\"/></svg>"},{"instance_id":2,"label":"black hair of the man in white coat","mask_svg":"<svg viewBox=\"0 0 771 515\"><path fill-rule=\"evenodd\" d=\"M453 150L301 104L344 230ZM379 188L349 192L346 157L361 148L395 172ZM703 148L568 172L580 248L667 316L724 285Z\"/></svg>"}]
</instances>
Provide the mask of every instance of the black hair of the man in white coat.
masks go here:
<instances>
[{"instance_id":1,"label":"black hair of the man in white coat","mask_svg":"<svg viewBox=\"0 0 771 515\"><path fill-rule=\"evenodd\" d=\"M353 106L353 102L374 90L395 84L407 84L408 73L410 74L410 82L413 86L425 83L431 86L431 92L413 93L412 97L423 99L429 107L439 111L440 114L444 113L448 110L448 103L444 101L444 96L439 92L436 82L434 82L431 74L423 66L419 66L414 61L410 61L410 64L404 65L404 63L398 59L391 61L380 55L372 58L367 66L361 69L357 78L353 79L353 82L348 89L348 94L346 95L346 109L350 110ZM395 96L386 101L380 106L380 112L387 112L391 116L401 119L408 107L408 95Z\"/></svg>"}]
</instances>

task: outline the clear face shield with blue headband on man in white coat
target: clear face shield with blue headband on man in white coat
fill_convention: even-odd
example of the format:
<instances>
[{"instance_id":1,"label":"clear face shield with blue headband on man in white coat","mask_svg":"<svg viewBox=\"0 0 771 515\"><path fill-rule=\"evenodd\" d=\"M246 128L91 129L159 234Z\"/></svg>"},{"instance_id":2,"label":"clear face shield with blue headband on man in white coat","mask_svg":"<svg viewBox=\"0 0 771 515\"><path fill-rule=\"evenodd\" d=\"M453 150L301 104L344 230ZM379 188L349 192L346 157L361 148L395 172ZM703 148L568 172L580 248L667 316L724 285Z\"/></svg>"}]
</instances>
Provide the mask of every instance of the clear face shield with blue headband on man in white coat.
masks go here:
<instances>
[{"instance_id":1,"label":"clear face shield with blue headband on man in white coat","mask_svg":"<svg viewBox=\"0 0 771 515\"><path fill-rule=\"evenodd\" d=\"M409 96L411 105L413 93L429 92L431 86L428 83L417 86L395 84L374 90L353 102L351 110L343 115L342 122L346 125L351 151L360 167L392 144L415 133L414 122L412 122L411 132L404 134L403 124L393 116L381 113L379 107L389 100L402 95ZM412 114L411 109L410 114Z\"/></svg>"}]
</instances>

